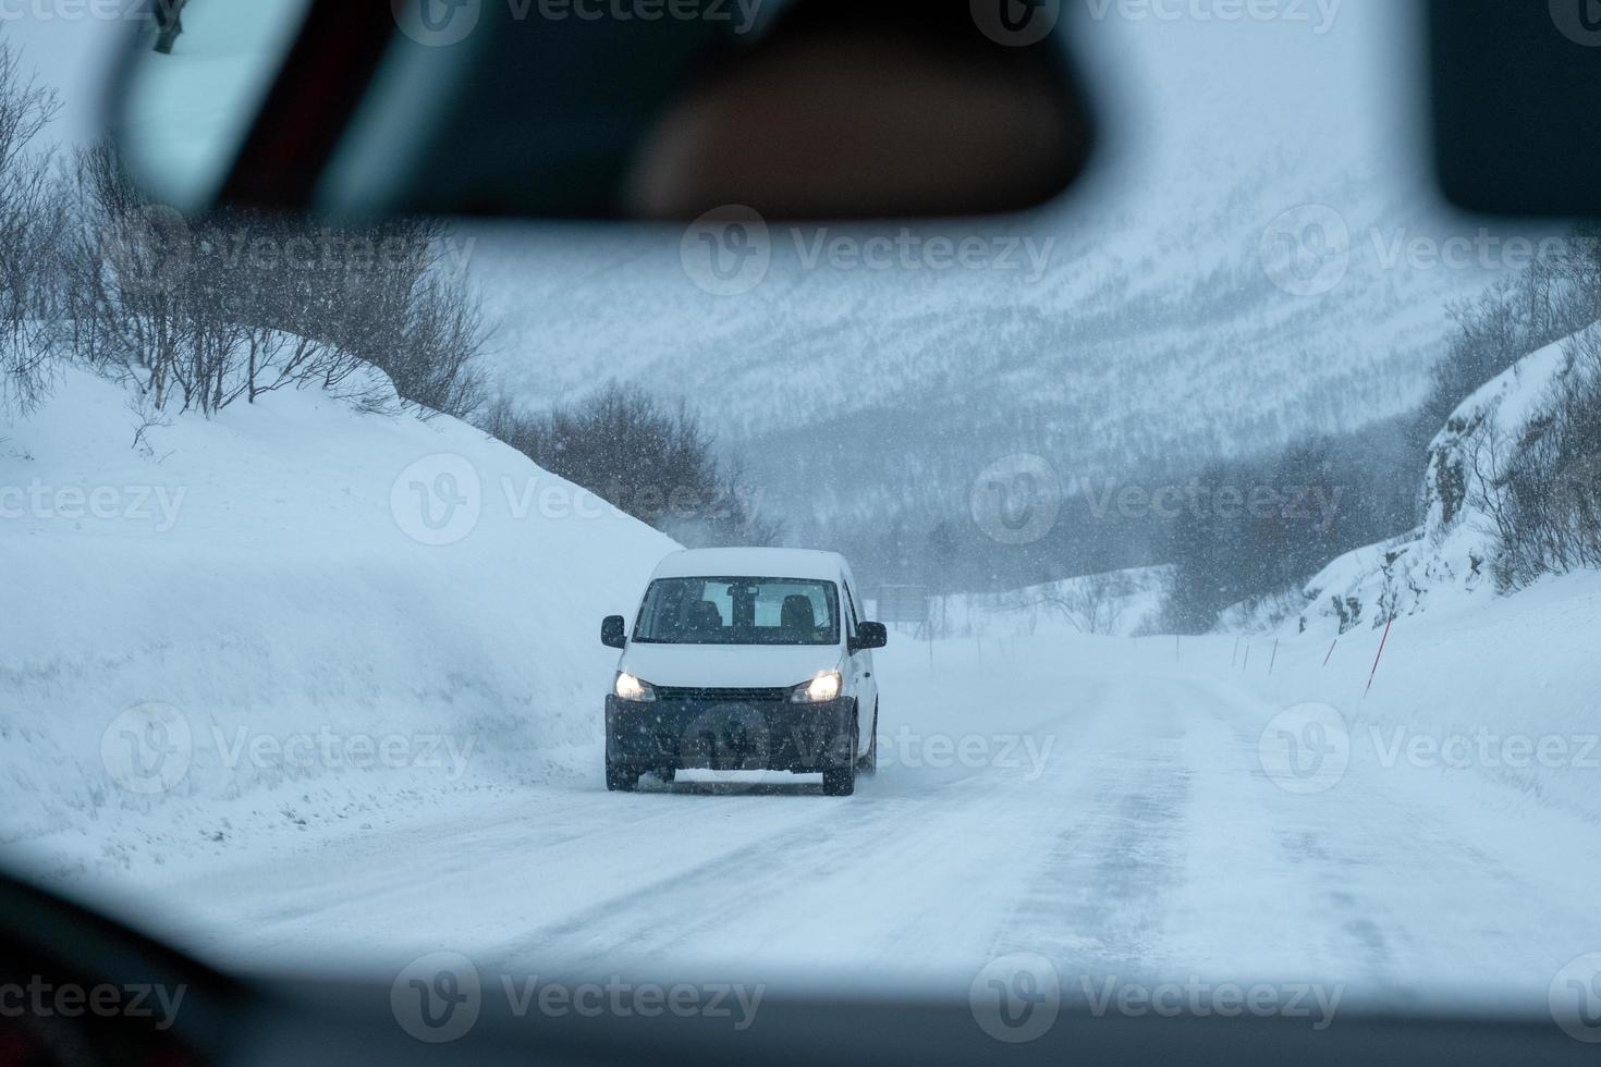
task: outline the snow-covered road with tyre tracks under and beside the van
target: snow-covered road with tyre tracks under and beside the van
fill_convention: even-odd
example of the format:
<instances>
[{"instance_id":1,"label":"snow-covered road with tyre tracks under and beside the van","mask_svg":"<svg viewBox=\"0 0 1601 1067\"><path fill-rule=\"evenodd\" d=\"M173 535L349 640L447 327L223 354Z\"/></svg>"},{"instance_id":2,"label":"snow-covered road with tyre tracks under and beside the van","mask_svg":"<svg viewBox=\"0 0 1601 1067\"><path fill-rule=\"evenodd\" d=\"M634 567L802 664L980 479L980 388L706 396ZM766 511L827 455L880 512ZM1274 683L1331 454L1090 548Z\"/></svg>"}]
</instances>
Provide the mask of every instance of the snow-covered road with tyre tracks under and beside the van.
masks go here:
<instances>
[{"instance_id":1,"label":"snow-covered road with tyre tracks under and beside the van","mask_svg":"<svg viewBox=\"0 0 1601 1067\"><path fill-rule=\"evenodd\" d=\"M1073 985L1539 1006L1598 947L1593 825L1361 744L1335 785L1292 792L1260 747L1282 709L1172 649L1108 641L1050 665L1028 641L953 643L930 670L903 648L882 667L882 766L853 798L812 779L612 795L597 773L146 888L186 944L255 968L450 950L492 973L956 990L1028 950Z\"/></svg>"}]
</instances>

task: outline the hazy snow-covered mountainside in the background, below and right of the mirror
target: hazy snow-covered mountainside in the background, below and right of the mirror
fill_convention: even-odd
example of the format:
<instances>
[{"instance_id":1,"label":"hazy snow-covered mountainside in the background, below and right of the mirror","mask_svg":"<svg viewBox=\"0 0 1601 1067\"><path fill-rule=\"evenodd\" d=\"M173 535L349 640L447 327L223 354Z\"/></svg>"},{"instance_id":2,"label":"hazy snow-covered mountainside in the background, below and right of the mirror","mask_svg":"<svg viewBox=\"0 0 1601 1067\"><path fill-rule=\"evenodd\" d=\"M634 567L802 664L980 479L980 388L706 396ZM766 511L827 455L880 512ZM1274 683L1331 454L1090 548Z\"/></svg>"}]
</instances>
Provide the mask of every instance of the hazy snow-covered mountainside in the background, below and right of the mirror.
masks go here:
<instances>
[{"instance_id":1,"label":"hazy snow-covered mountainside in the background, below and right of the mirror","mask_svg":"<svg viewBox=\"0 0 1601 1067\"><path fill-rule=\"evenodd\" d=\"M949 512L1012 453L1071 483L1409 410L1446 302L1505 266L1508 235L1428 190L1396 104L1407 13L1116 11L1081 10L1111 136L1065 203L890 227L911 251L884 269L857 258L861 230L775 226L765 275L733 296L696 285L680 229L487 234L471 269L504 318L498 378L532 405L612 376L687 395L792 536L885 501ZM978 238L983 266L933 266L937 238Z\"/></svg>"}]
</instances>

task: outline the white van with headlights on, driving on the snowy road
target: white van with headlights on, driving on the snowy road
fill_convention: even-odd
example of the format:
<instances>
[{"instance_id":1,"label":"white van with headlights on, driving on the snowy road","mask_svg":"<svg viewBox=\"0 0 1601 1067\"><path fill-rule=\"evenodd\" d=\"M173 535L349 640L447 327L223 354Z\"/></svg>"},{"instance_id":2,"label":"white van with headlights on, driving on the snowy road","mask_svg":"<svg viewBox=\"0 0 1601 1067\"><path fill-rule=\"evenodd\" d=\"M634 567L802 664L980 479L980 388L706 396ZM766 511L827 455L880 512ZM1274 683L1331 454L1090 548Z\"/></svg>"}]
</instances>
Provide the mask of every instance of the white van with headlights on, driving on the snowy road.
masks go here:
<instances>
[{"instance_id":1,"label":"white van with headlights on, driving on the snowy road","mask_svg":"<svg viewBox=\"0 0 1601 1067\"><path fill-rule=\"evenodd\" d=\"M877 763L873 649L850 566L834 552L703 549L656 568L634 617L600 640L623 649L605 699L605 782L679 769L823 776L849 797Z\"/></svg>"}]
</instances>

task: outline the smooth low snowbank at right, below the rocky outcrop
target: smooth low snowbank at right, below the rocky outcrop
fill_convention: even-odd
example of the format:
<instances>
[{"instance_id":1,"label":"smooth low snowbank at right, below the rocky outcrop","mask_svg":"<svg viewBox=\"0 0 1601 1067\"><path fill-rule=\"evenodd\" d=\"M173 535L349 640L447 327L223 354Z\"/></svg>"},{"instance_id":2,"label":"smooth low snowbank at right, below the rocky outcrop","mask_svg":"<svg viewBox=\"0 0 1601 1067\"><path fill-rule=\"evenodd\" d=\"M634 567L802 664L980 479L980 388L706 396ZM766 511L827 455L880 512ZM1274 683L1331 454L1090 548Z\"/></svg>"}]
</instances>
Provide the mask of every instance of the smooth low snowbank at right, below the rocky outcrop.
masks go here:
<instances>
[{"instance_id":1,"label":"smooth low snowbank at right, below the rocky outcrop","mask_svg":"<svg viewBox=\"0 0 1601 1067\"><path fill-rule=\"evenodd\" d=\"M1593 825L1601 824L1598 617L1601 573L1575 573L1513 597L1436 600L1398 616L1388 638L1383 625L1186 638L1185 657L1287 713L1303 741L1316 737L1287 709L1334 709L1338 728L1326 736L1338 760L1410 784L1420 801L1452 795L1447 779L1478 789L1487 809L1524 827L1547 824L1553 809Z\"/></svg>"}]
</instances>

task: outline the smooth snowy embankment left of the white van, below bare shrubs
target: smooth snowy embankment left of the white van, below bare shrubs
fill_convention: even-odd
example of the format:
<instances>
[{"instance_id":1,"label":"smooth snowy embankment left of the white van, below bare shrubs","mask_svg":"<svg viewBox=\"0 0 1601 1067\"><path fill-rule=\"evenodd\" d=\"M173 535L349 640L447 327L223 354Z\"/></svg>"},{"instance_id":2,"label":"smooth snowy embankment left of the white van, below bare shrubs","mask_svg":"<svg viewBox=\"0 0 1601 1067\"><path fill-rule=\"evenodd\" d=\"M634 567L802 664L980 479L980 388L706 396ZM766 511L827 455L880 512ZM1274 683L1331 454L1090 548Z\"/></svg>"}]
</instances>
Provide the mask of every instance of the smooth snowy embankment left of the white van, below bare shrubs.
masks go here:
<instances>
[{"instance_id":1,"label":"smooth snowy embankment left of the white van, below bare shrubs","mask_svg":"<svg viewBox=\"0 0 1601 1067\"><path fill-rule=\"evenodd\" d=\"M600 608L674 547L450 418L146 426L69 371L0 422L0 846L134 867L599 781Z\"/></svg>"}]
</instances>

